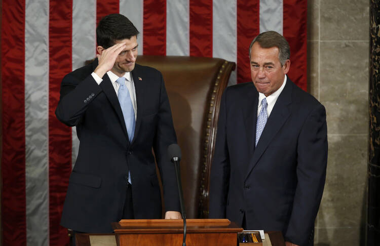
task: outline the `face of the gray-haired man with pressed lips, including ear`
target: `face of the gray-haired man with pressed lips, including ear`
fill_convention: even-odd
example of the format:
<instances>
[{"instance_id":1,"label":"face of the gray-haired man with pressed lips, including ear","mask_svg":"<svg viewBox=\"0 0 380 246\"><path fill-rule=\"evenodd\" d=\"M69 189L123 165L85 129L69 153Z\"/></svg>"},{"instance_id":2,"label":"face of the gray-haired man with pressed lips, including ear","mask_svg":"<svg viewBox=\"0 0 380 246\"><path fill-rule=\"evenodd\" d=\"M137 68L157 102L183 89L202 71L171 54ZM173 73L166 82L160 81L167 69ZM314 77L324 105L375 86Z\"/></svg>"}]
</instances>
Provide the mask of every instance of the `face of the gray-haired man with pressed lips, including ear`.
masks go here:
<instances>
[{"instance_id":1,"label":"face of the gray-haired man with pressed lips, including ear","mask_svg":"<svg viewBox=\"0 0 380 246\"><path fill-rule=\"evenodd\" d=\"M277 91L289 71L290 61L281 66L277 47L261 48L256 42L251 48L251 78L256 90L268 97Z\"/></svg>"}]
</instances>

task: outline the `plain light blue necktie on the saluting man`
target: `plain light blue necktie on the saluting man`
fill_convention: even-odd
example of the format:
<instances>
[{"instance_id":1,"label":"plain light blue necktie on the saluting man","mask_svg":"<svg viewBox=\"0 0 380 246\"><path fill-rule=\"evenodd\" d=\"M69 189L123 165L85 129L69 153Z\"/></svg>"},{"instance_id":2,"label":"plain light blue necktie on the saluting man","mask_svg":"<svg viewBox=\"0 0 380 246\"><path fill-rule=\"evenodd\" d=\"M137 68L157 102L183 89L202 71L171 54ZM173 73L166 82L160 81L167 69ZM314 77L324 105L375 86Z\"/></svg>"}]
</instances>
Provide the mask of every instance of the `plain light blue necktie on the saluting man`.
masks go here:
<instances>
[{"instance_id":1,"label":"plain light blue necktie on the saluting man","mask_svg":"<svg viewBox=\"0 0 380 246\"><path fill-rule=\"evenodd\" d=\"M135 111L133 110L132 100L129 95L128 88L125 85L125 77L118 78L116 82L120 85L118 90L119 103L123 111L129 142L132 142L136 126Z\"/></svg>"}]
</instances>

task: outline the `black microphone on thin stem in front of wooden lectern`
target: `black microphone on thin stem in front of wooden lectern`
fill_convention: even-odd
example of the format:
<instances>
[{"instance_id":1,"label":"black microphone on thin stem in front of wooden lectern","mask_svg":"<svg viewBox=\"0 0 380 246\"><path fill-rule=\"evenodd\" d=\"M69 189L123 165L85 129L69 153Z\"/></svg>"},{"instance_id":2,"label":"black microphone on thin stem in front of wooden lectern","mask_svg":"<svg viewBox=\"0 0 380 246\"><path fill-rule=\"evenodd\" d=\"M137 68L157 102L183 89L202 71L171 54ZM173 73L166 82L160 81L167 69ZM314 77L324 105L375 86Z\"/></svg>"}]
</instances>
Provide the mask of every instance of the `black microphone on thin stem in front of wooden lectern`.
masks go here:
<instances>
[{"instance_id":1,"label":"black microphone on thin stem in front of wooden lectern","mask_svg":"<svg viewBox=\"0 0 380 246\"><path fill-rule=\"evenodd\" d=\"M185 206L184 206L184 202L183 202L181 174L179 172L179 161L181 160L181 148L179 148L178 144L169 145L168 156L170 158L170 161L174 163L174 167L175 167L175 175L177 177L177 184L178 184L179 203L181 205L181 213L182 213L182 219L183 219L183 242L182 242L182 246L186 246L186 214L185 214Z\"/></svg>"}]
</instances>

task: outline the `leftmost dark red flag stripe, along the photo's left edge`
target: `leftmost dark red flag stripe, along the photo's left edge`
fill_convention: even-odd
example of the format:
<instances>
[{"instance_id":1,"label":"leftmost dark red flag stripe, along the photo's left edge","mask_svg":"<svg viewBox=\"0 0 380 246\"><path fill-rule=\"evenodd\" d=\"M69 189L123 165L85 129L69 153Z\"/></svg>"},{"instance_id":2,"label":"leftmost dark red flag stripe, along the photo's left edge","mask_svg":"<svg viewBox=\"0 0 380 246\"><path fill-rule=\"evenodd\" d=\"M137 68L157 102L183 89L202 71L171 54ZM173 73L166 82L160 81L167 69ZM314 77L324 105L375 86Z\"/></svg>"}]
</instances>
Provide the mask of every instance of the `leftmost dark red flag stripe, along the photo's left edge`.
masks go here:
<instances>
[{"instance_id":1,"label":"leftmost dark red flag stripe, along the photo's left edge","mask_svg":"<svg viewBox=\"0 0 380 246\"><path fill-rule=\"evenodd\" d=\"M25 3L4 1L2 8L3 238L25 242Z\"/></svg>"}]
</instances>

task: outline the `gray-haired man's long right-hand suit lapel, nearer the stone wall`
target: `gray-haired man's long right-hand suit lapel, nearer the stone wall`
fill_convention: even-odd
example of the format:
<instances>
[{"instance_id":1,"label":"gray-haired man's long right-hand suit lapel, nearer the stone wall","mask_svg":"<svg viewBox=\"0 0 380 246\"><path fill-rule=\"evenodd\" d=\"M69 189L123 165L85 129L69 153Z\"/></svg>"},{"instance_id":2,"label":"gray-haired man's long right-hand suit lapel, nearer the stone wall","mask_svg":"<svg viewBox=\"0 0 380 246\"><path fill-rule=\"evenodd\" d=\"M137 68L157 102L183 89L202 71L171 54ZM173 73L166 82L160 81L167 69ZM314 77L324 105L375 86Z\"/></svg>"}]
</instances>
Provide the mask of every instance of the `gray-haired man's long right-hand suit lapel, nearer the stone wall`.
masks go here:
<instances>
[{"instance_id":1,"label":"gray-haired man's long right-hand suit lapel, nearer the stone wall","mask_svg":"<svg viewBox=\"0 0 380 246\"><path fill-rule=\"evenodd\" d=\"M292 82L290 79L286 81L284 90L278 97L275 106L272 109L271 115L268 117L267 124L265 124L264 130L260 136L257 146L253 152L252 158L249 162L247 176L250 175L252 169L256 166L259 158L267 149L268 145L271 143L273 138L284 125L287 118L290 116L290 106L291 106L291 93L292 93ZM258 103L258 102L257 102ZM257 110L256 103L256 110ZM257 111L256 111L257 114ZM256 126L256 123L255 123ZM255 131L256 132L256 131ZM255 137L255 136L254 136ZM253 141L253 145L254 145Z\"/></svg>"}]
</instances>

